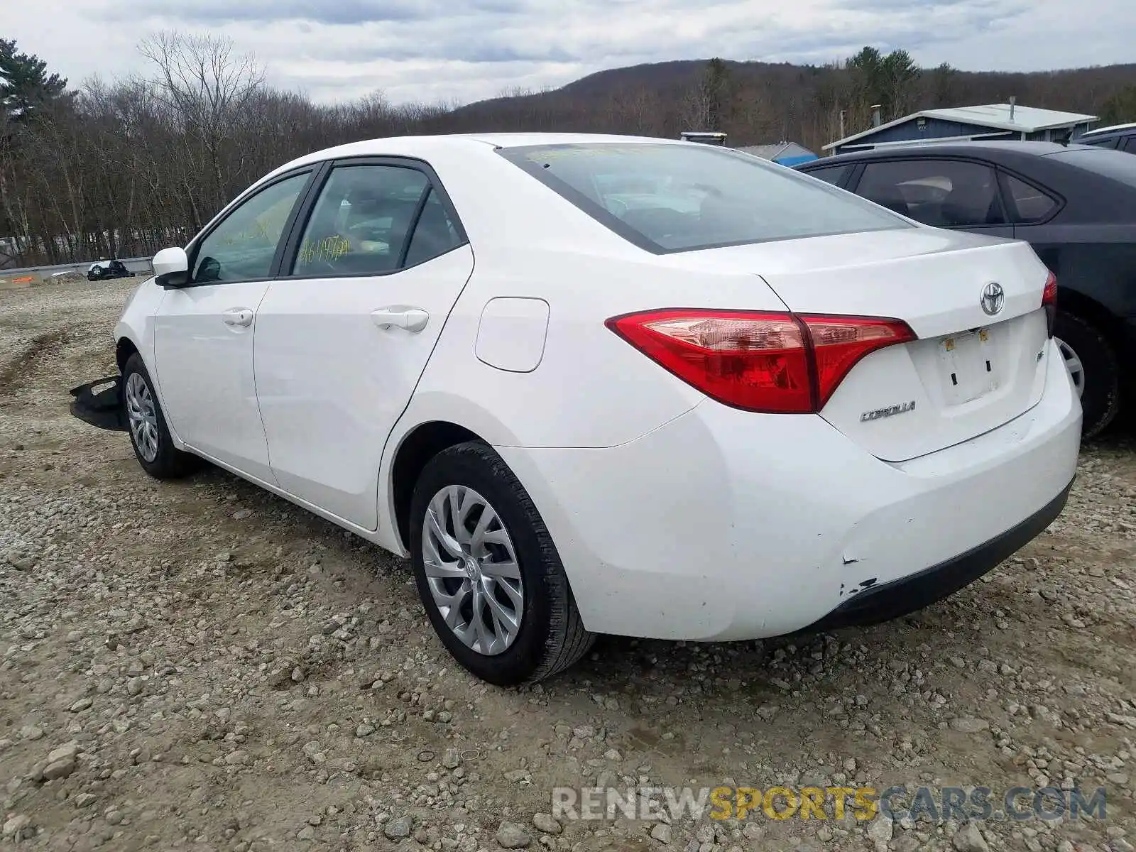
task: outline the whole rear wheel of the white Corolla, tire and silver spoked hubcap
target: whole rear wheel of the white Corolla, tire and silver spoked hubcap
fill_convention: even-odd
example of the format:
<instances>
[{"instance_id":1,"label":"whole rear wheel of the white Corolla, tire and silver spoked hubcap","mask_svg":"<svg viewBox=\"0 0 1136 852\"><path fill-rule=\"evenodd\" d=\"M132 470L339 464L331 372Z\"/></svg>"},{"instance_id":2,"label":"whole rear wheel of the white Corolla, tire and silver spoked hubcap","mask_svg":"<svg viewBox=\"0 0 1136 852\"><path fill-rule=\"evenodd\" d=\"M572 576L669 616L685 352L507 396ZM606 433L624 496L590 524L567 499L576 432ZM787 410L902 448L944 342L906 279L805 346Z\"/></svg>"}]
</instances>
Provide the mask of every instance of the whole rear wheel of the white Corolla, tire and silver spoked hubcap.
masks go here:
<instances>
[{"instance_id":1,"label":"whole rear wheel of the white Corolla, tire and silver spoked hubcap","mask_svg":"<svg viewBox=\"0 0 1136 852\"><path fill-rule=\"evenodd\" d=\"M456 506L460 532L453 521ZM476 528L486 512L496 520L481 525L486 532L478 544ZM431 519L441 524L448 544L427 531ZM434 630L453 658L483 680L496 686L536 683L575 663L595 640L584 629L560 556L532 499L501 457L483 443L451 446L426 463L410 503L410 553ZM470 559L459 553L483 559L473 559L469 567ZM432 576L427 576L427 554ZM516 571L491 570L510 561ZM446 576L440 576L437 566L448 566ZM483 595L482 615L504 612L515 629L507 621L483 617L477 630L475 588ZM459 605L446 607L454 627L446 623L436 593L458 601Z\"/></svg>"}]
</instances>

